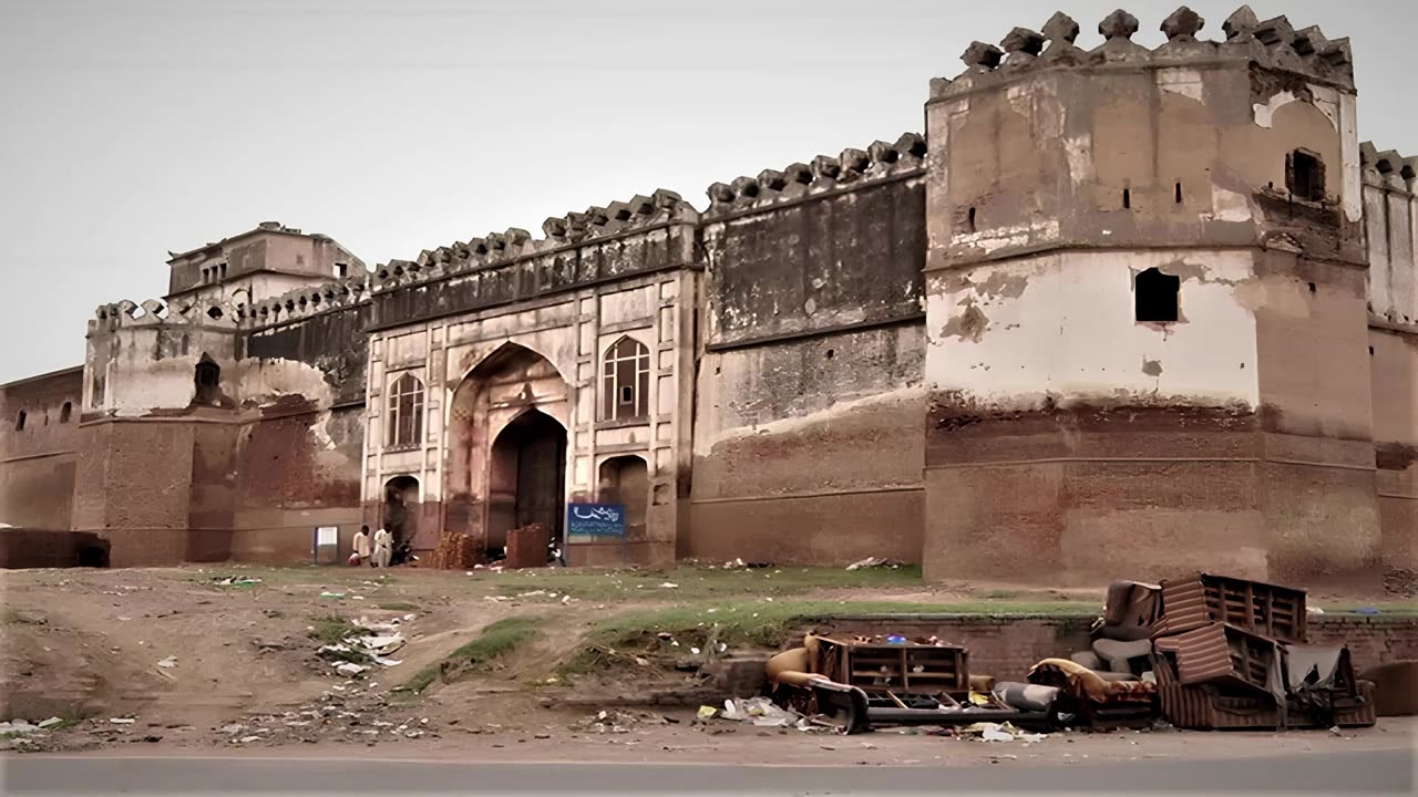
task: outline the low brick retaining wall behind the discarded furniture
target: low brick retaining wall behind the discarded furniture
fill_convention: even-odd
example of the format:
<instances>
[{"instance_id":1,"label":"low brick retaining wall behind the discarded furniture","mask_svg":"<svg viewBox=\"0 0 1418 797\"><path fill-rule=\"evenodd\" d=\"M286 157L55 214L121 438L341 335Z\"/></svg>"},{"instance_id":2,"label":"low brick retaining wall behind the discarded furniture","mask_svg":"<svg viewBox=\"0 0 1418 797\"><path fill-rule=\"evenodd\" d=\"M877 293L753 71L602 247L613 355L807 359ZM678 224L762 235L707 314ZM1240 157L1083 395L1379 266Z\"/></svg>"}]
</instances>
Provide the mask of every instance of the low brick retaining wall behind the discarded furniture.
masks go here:
<instances>
[{"instance_id":1,"label":"low brick retaining wall behind the discarded furniture","mask_svg":"<svg viewBox=\"0 0 1418 797\"><path fill-rule=\"evenodd\" d=\"M830 617L810 627L825 635L902 634L936 637L970 648L970 672L1000 681L1022 681L1044 658L1068 658L1089 650L1089 628L1096 615L1011 615L980 614L873 614ZM1312 645L1349 645L1354 669L1377 664L1418 659L1418 617L1360 617L1312 614Z\"/></svg>"}]
</instances>

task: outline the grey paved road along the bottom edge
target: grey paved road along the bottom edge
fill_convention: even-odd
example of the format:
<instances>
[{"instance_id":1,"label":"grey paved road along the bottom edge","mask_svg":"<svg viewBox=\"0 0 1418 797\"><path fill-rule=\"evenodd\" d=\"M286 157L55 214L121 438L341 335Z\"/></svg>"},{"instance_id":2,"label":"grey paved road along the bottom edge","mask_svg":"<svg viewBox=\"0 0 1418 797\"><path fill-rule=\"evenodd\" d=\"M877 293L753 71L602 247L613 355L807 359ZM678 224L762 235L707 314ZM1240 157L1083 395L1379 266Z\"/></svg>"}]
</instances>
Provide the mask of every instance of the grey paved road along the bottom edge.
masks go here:
<instances>
[{"instance_id":1,"label":"grey paved road along the bottom edge","mask_svg":"<svg viewBox=\"0 0 1418 797\"><path fill-rule=\"evenodd\" d=\"M1412 794L1412 750L1285 759L963 767L465 763L359 759L10 756L6 794Z\"/></svg>"}]
</instances>

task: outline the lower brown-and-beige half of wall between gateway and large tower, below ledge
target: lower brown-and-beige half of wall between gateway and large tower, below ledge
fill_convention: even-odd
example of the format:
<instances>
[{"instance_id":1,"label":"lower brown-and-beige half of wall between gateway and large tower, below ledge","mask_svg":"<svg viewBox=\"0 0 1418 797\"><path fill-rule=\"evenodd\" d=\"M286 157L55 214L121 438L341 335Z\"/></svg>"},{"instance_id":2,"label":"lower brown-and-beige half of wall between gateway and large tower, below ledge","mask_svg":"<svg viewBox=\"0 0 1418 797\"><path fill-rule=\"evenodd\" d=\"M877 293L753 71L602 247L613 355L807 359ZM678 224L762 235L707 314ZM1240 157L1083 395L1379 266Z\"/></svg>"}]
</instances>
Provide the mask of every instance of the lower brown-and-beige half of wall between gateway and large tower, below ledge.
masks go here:
<instances>
[{"instance_id":1,"label":"lower brown-and-beige half of wall between gateway and large tower, below ledge","mask_svg":"<svg viewBox=\"0 0 1418 797\"><path fill-rule=\"evenodd\" d=\"M706 355L681 554L917 562L923 343L900 323Z\"/></svg>"}]
</instances>

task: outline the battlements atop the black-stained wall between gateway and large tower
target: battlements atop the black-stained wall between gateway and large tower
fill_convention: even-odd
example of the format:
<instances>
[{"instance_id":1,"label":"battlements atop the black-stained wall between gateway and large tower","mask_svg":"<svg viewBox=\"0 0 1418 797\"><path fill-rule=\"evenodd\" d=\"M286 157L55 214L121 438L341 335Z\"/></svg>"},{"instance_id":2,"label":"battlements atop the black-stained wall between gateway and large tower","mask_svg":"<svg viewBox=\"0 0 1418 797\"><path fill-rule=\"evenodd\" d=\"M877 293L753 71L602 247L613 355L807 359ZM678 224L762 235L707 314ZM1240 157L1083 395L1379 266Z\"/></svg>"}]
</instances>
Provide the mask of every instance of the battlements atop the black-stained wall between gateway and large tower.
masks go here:
<instances>
[{"instance_id":1,"label":"battlements atop the black-stained wall between gateway and large tower","mask_svg":"<svg viewBox=\"0 0 1418 797\"><path fill-rule=\"evenodd\" d=\"M764 169L757 177L736 177L732 183L715 183L706 191L709 210L705 211L705 217L767 207L852 183L916 173L922 172L925 165L925 136L903 133L896 143L873 142L865 152L844 149L838 157L820 155L811 165L793 163L781 170Z\"/></svg>"}]
</instances>

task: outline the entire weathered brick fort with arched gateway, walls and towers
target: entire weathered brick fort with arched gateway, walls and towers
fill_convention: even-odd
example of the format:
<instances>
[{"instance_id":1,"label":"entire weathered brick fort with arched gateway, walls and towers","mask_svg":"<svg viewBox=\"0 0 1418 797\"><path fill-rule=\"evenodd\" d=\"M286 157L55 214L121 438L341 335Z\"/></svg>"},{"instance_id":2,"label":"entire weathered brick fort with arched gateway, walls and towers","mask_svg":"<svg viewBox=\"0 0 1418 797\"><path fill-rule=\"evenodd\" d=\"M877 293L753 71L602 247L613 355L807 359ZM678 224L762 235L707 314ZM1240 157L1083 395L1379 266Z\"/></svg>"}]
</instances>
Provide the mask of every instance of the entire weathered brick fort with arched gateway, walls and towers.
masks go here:
<instances>
[{"instance_id":1,"label":"entire weathered brick fort with arched gateway, walls and towers","mask_svg":"<svg viewBox=\"0 0 1418 797\"><path fill-rule=\"evenodd\" d=\"M1418 566L1415 169L1347 40L1055 14L906 133L373 269L265 223L0 387L0 520L115 566L560 533L571 564L1092 584ZM926 89L926 87L922 87ZM346 542L347 545L347 542Z\"/></svg>"}]
</instances>

